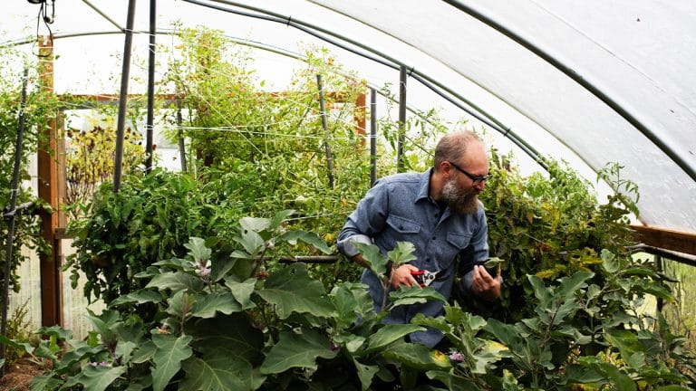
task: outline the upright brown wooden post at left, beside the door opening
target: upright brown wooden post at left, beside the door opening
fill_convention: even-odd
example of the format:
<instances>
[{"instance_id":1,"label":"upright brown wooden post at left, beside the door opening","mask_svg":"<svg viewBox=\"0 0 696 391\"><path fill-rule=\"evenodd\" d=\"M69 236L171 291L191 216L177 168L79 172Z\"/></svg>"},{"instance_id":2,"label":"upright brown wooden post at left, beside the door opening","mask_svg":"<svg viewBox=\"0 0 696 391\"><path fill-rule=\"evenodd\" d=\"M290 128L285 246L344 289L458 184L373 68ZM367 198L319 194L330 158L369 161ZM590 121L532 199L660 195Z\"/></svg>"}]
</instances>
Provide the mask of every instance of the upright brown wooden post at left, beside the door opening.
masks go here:
<instances>
[{"instance_id":1,"label":"upright brown wooden post at left, beside the door opening","mask_svg":"<svg viewBox=\"0 0 696 391\"><path fill-rule=\"evenodd\" d=\"M53 92L53 41L39 37L39 70L47 91ZM58 122L55 119L48 126L41 127L38 160L38 193L44 202L51 205L56 213L40 212L42 236L51 248L50 254L39 254L41 274L41 313L43 326L63 326L63 291L61 284L59 256L61 241L55 237L58 226L58 160L57 138Z\"/></svg>"}]
</instances>

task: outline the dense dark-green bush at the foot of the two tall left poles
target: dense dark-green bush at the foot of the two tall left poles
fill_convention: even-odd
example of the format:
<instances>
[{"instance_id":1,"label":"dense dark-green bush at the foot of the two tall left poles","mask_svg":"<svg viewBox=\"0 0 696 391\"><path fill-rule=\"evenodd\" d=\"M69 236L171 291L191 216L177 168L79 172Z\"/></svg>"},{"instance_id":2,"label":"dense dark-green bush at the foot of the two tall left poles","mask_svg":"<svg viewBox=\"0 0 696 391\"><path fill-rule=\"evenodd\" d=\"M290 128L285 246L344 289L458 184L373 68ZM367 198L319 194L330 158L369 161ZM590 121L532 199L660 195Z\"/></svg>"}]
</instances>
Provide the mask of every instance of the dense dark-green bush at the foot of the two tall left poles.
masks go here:
<instances>
[{"instance_id":1,"label":"dense dark-green bush at the foot of the two tall left poles","mask_svg":"<svg viewBox=\"0 0 696 391\"><path fill-rule=\"evenodd\" d=\"M79 251L64 266L71 269L73 288L83 272L85 296L107 302L141 288L133 276L150 264L183 256L190 236L214 235L210 223L218 216L200 184L183 174L155 170L124 176L119 193L111 186L99 187L87 205L89 218L71 224Z\"/></svg>"}]
</instances>

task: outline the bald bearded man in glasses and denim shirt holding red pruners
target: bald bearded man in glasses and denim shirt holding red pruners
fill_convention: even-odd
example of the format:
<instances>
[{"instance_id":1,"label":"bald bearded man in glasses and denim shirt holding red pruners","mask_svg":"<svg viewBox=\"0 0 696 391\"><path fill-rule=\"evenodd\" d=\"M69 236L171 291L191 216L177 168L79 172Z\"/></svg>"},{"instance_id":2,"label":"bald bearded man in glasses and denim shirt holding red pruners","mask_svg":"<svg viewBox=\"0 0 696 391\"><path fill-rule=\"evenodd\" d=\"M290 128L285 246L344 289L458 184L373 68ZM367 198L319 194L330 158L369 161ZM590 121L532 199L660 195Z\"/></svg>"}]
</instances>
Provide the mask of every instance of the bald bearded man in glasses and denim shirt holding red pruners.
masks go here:
<instances>
[{"instance_id":1,"label":"bald bearded man in glasses and denim shirt holding red pruners","mask_svg":"<svg viewBox=\"0 0 696 391\"><path fill-rule=\"evenodd\" d=\"M497 300L501 277L492 276L488 260L488 224L478 194L488 179L488 154L483 142L470 131L444 136L435 148L433 167L424 173L386 176L377 182L348 216L338 237L338 249L366 269L374 309L382 310L384 291L379 278L367 268L353 243L375 244L383 254L398 242L411 242L416 260L389 268L390 291L401 285L420 285L416 278L427 271L429 286L449 300L455 275L460 289L483 300ZM422 276L422 274L420 274ZM418 313L437 317L443 303L399 306L385 323L409 323ZM442 339L437 329L412 333L411 342L430 348Z\"/></svg>"}]
</instances>

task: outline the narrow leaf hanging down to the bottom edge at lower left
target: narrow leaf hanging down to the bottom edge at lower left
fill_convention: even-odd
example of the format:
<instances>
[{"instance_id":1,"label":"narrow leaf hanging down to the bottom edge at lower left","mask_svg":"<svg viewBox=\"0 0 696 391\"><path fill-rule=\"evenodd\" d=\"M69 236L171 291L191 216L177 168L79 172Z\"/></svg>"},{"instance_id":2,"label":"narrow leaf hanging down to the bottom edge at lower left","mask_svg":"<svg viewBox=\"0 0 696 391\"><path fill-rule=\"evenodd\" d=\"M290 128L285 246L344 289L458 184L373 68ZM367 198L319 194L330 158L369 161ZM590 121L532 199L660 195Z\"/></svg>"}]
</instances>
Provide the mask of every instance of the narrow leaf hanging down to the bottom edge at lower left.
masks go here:
<instances>
[{"instance_id":1,"label":"narrow leaf hanging down to the bottom edge at lower left","mask_svg":"<svg viewBox=\"0 0 696 391\"><path fill-rule=\"evenodd\" d=\"M152 334L152 342L157 350L152 360L155 368L152 370L152 388L162 391L169 380L179 372L181 361L191 357L193 350L189 346L190 336L176 337L169 334Z\"/></svg>"}]
</instances>

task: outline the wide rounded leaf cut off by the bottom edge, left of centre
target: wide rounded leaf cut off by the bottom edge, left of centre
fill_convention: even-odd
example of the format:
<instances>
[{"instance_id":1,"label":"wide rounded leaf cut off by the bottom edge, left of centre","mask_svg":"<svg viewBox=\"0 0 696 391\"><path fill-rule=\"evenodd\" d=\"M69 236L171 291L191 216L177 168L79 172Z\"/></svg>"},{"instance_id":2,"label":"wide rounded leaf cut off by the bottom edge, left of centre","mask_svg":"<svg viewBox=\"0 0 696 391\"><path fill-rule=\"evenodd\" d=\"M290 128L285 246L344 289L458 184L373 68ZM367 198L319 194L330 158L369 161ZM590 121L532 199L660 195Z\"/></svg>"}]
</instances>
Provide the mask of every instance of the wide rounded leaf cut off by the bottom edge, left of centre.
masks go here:
<instances>
[{"instance_id":1,"label":"wide rounded leaf cut off by the bottom edge, left of centre","mask_svg":"<svg viewBox=\"0 0 696 391\"><path fill-rule=\"evenodd\" d=\"M253 390L250 375L251 364L234 355L218 355L215 358L192 358L184 361L181 367L186 377L179 389L233 391Z\"/></svg>"}]
</instances>

